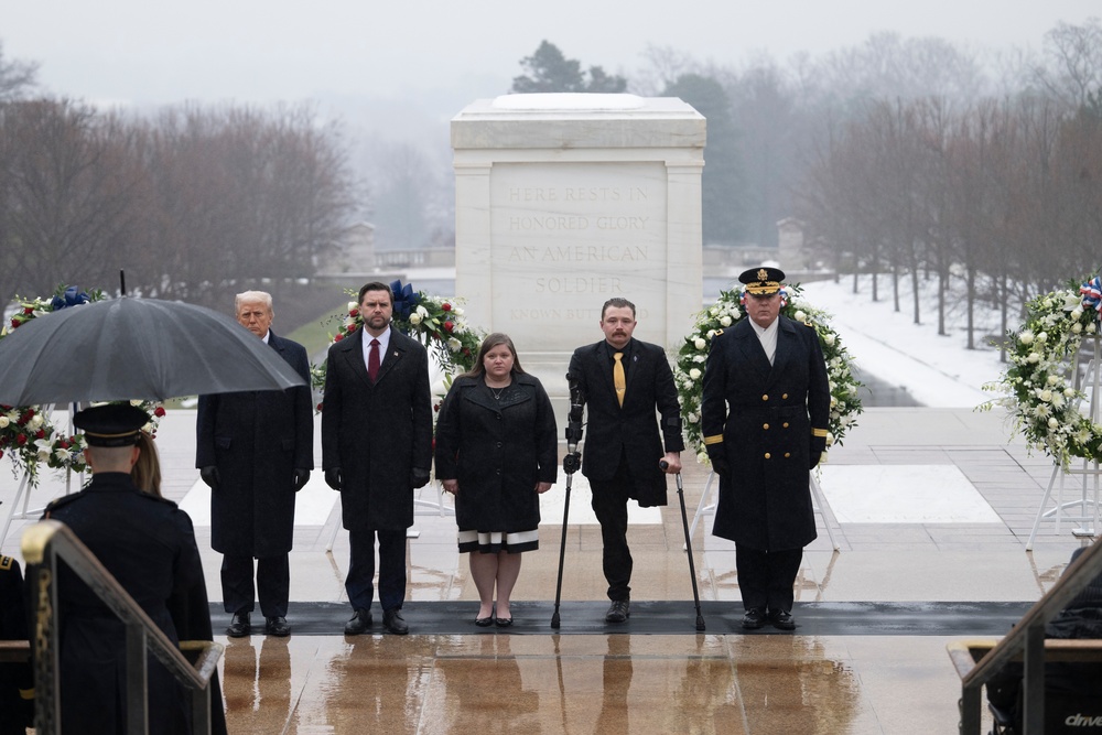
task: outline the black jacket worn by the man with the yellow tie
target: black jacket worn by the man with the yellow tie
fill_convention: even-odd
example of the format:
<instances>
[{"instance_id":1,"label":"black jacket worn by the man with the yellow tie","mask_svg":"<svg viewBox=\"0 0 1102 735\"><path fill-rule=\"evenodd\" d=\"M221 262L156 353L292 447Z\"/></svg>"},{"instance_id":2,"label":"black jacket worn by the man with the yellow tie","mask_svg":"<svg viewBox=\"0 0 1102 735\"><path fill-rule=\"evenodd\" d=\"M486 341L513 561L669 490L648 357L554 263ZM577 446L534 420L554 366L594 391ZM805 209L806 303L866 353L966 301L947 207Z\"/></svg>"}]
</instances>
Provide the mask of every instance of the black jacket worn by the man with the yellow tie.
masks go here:
<instances>
[{"instance_id":1,"label":"black jacket worn by the man with the yellow tie","mask_svg":"<svg viewBox=\"0 0 1102 735\"><path fill-rule=\"evenodd\" d=\"M613 386L613 353L607 342L579 347L570 358L570 376L585 400L586 425L582 474L611 480L627 454L630 497L642 507L666 505L666 473L658 463L667 452L684 448L681 406L673 371L658 345L631 339L625 367L624 406ZM661 428L655 410L661 415Z\"/></svg>"}]
</instances>

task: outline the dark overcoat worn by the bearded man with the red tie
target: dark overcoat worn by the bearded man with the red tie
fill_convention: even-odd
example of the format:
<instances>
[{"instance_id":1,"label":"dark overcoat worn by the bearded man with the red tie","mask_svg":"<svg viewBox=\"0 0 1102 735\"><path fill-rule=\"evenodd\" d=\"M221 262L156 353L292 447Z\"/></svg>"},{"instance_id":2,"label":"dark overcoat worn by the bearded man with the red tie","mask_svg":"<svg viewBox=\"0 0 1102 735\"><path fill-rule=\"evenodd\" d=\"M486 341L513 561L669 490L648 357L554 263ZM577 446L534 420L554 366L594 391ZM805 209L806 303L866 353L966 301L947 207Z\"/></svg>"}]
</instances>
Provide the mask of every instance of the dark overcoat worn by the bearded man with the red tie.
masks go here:
<instances>
[{"instance_id":1,"label":"dark overcoat worn by the bearded man with the red tie","mask_svg":"<svg viewBox=\"0 0 1102 735\"><path fill-rule=\"evenodd\" d=\"M322 401L322 467L341 468L344 527L397 531L413 525L414 467L432 467L429 355L390 331L376 381L364 331L329 346Z\"/></svg>"}]
</instances>

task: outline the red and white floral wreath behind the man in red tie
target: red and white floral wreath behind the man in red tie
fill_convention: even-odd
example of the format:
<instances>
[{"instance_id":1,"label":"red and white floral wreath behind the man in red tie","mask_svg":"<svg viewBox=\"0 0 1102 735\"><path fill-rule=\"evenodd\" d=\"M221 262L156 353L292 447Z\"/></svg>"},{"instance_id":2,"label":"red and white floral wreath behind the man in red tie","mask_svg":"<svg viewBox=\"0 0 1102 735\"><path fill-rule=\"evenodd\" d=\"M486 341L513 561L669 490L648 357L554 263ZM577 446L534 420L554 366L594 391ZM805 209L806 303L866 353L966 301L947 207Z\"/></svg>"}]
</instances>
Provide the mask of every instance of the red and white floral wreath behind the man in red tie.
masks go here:
<instances>
[{"instance_id":1,"label":"red and white floral wreath behind the man in red tie","mask_svg":"<svg viewBox=\"0 0 1102 735\"><path fill-rule=\"evenodd\" d=\"M445 299L413 291L413 287L409 283L403 285L400 280L390 283L390 291L395 298L391 327L417 339L436 356L445 372L445 387L451 385L453 376L474 367L478 346L485 335L467 324L463 309L458 305L462 299ZM359 291L346 289L345 293L355 299ZM359 302L355 300L348 302L347 315L337 318L344 321L333 335L331 344L364 328ZM316 390L325 387L325 361L310 368L311 385ZM317 410L322 410L321 403L317 404Z\"/></svg>"}]
</instances>

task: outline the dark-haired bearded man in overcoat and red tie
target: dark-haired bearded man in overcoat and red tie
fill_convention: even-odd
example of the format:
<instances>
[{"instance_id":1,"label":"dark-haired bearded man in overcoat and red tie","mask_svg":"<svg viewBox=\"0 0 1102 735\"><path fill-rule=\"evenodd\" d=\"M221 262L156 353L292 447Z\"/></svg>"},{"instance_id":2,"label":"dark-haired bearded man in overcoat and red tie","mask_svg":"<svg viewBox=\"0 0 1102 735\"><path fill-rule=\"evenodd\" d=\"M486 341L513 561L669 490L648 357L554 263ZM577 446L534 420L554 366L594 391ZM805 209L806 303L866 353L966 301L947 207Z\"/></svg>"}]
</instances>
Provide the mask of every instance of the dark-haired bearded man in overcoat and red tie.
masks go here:
<instances>
[{"instance_id":1,"label":"dark-haired bearded man in overcoat and red tie","mask_svg":"<svg viewBox=\"0 0 1102 735\"><path fill-rule=\"evenodd\" d=\"M413 525L413 490L429 483L432 467L429 355L390 327L389 285L365 284L358 303L364 327L329 347L322 400L322 468L341 493L350 547L345 590L353 617L345 634L371 625L377 536L382 625L406 635L406 529Z\"/></svg>"}]
</instances>

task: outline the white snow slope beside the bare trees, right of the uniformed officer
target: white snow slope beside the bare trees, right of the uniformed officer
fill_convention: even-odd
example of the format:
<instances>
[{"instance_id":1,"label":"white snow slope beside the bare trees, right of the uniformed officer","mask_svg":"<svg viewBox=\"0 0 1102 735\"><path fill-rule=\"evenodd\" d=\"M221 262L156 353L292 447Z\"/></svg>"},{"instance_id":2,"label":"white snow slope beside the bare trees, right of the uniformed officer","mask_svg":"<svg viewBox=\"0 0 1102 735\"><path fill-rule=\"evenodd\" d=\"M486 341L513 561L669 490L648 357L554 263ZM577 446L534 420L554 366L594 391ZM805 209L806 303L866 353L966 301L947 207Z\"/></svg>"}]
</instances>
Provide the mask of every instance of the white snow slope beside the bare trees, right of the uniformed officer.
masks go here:
<instances>
[{"instance_id":1,"label":"white snow slope beside the bare trees, right of the uniformed officer","mask_svg":"<svg viewBox=\"0 0 1102 735\"><path fill-rule=\"evenodd\" d=\"M936 285L933 281L922 283L921 324L914 323L909 281L900 284L899 312L894 310L887 277L880 278L876 302L871 298L869 277L858 280L857 293L853 292L852 275L839 283L815 281L801 288L804 301L832 314L830 323L862 374L906 389L923 406L974 408L997 396L982 386L998 380L1005 366L994 347L977 344L977 349L966 348L964 314L957 301L946 316L948 334L938 335ZM988 326L997 324L995 314L977 311L976 322L981 325L977 343L979 335L997 333L997 327Z\"/></svg>"}]
</instances>

